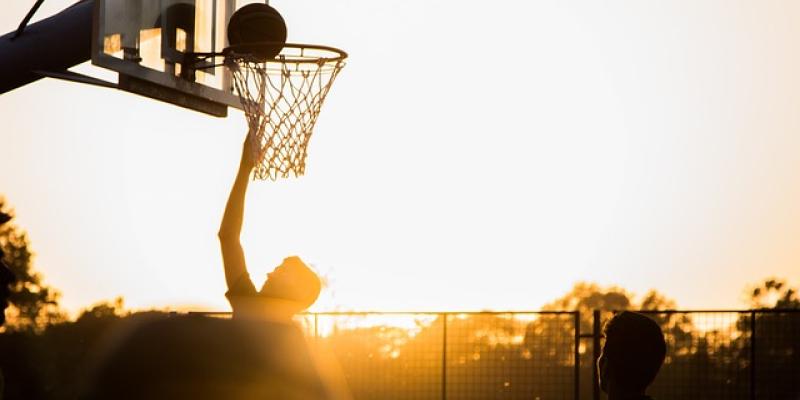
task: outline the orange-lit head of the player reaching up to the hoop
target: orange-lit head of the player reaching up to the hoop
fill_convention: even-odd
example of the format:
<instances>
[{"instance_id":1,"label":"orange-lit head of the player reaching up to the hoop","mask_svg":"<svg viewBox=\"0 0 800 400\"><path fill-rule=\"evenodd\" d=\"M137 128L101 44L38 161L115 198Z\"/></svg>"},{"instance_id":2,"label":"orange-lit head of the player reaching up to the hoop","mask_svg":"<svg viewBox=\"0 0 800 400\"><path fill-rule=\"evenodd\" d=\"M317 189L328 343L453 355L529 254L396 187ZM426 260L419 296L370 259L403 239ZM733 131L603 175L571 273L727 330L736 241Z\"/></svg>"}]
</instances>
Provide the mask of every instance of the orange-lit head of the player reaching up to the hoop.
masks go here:
<instances>
[{"instance_id":1,"label":"orange-lit head of the player reaching up to the hoop","mask_svg":"<svg viewBox=\"0 0 800 400\"><path fill-rule=\"evenodd\" d=\"M297 312L317 301L322 283L311 268L297 256L286 257L281 265L267 274L261 296L288 300L296 304Z\"/></svg>"}]
</instances>

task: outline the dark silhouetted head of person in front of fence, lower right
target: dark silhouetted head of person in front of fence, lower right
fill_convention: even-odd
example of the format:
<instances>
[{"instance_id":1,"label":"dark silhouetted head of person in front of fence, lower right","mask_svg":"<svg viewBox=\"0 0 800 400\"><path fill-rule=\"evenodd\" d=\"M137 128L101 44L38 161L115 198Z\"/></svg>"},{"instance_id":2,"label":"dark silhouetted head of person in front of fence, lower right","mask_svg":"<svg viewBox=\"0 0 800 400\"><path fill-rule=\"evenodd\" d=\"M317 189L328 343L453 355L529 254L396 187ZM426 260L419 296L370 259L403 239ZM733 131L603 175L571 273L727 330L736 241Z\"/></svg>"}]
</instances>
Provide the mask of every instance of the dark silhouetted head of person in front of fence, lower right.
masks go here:
<instances>
[{"instance_id":1,"label":"dark silhouetted head of person in front of fence, lower right","mask_svg":"<svg viewBox=\"0 0 800 400\"><path fill-rule=\"evenodd\" d=\"M653 383L667 346L661 328L652 319L630 311L606 323L606 343L597 360L604 392L643 394Z\"/></svg>"}]
</instances>

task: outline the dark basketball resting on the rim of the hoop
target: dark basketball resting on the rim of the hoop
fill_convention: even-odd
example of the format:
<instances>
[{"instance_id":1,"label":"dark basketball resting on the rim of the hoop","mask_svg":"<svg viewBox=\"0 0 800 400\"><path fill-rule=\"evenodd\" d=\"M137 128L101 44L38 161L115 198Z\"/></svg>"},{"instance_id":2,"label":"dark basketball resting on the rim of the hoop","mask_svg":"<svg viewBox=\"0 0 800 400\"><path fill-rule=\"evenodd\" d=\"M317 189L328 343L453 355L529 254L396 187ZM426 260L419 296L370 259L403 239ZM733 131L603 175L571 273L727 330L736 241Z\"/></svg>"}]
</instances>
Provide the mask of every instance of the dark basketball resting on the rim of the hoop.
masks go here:
<instances>
[{"instance_id":1,"label":"dark basketball resting on the rim of the hoop","mask_svg":"<svg viewBox=\"0 0 800 400\"><path fill-rule=\"evenodd\" d=\"M248 4L231 16L228 42L237 53L249 53L260 61L275 58L286 43L286 22L267 4Z\"/></svg>"}]
</instances>

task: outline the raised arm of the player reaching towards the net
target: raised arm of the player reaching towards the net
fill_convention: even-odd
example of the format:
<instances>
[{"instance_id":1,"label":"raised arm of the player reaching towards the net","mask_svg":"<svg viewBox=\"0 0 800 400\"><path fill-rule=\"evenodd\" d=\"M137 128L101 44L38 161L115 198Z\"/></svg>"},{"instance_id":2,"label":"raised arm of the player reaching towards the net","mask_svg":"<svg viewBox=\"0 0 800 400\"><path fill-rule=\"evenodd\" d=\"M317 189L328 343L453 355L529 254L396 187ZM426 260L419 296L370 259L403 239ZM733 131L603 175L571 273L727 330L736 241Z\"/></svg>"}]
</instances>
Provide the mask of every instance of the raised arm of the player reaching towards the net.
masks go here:
<instances>
[{"instance_id":1,"label":"raised arm of the player reaching towards the net","mask_svg":"<svg viewBox=\"0 0 800 400\"><path fill-rule=\"evenodd\" d=\"M245 140L239 172L236 174L231 194L228 196L228 204L225 206L225 214L222 216L218 234L222 247L222 263L225 266L225 282L227 282L229 290L234 287L239 278L247 274L247 265L239 234L242 232L244 198L252 169L252 150L249 140Z\"/></svg>"}]
</instances>

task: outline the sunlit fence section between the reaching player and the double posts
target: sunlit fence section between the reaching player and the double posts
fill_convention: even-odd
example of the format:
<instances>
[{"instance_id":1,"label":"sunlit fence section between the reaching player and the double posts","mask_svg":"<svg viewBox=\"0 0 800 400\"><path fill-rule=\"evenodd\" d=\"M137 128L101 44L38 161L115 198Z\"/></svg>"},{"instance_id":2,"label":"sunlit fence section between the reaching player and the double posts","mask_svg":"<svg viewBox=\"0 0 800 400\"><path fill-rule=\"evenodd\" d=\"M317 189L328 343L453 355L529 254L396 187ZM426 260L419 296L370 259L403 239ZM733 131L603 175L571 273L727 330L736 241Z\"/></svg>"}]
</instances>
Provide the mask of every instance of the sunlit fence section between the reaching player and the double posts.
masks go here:
<instances>
[{"instance_id":1,"label":"sunlit fence section between the reaching player and the double posts","mask_svg":"<svg viewBox=\"0 0 800 400\"><path fill-rule=\"evenodd\" d=\"M576 399L574 312L321 313L355 399Z\"/></svg>"}]
</instances>

